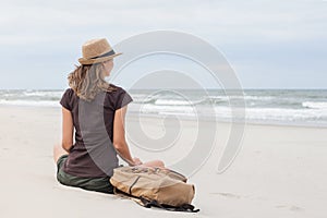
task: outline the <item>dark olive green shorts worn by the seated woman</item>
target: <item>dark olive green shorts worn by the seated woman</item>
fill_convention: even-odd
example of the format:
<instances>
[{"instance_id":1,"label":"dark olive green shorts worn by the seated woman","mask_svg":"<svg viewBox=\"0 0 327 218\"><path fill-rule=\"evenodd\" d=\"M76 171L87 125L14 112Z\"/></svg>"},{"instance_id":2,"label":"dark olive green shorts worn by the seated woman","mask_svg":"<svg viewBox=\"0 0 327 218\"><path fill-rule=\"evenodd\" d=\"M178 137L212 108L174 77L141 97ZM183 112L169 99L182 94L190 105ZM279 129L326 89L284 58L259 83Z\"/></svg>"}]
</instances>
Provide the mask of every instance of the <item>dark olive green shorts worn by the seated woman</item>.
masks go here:
<instances>
[{"instance_id":1,"label":"dark olive green shorts worn by the seated woman","mask_svg":"<svg viewBox=\"0 0 327 218\"><path fill-rule=\"evenodd\" d=\"M88 191L96 191L112 194L113 186L110 183L110 178L81 178L69 174L62 170L62 166L66 160L68 155L61 156L57 161L57 180L68 186L81 187Z\"/></svg>"}]
</instances>

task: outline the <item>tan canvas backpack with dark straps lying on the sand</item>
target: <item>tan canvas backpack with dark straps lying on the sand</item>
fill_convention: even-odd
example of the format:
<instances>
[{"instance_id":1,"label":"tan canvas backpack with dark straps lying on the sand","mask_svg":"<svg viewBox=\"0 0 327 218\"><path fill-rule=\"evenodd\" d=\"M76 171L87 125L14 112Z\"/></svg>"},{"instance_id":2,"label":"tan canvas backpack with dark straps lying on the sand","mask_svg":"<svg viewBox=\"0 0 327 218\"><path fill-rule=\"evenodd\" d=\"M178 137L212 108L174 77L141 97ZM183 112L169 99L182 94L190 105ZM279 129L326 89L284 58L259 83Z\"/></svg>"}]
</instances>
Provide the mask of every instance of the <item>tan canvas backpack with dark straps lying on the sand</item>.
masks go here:
<instances>
[{"instance_id":1,"label":"tan canvas backpack with dark straps lying on the sand","mask_svg":"<svg viewBox=\"0 0 327 218\"><path fill-rule=\"evenodd\" d=\"M195 189L186 181L183 174L173 170L137 166L116 168L110 178L114 194L144 207L196 213L199 209L191 205Z\"/></svg>"}]
</instances>

